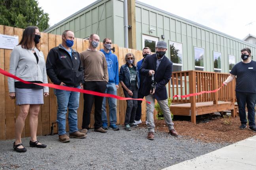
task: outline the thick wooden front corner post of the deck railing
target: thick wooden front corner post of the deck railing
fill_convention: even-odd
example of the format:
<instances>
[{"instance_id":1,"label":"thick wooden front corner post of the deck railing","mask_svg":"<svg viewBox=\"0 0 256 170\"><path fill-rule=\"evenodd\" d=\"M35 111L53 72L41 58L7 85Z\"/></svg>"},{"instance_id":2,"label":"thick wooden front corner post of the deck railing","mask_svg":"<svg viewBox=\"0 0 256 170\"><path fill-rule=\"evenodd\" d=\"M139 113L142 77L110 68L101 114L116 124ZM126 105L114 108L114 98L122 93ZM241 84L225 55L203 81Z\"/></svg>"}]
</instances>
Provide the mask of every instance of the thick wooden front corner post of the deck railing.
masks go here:
<instances>
[{"instance_id":1,"label":"thick wooden front corner post of the deck railing","mask_svg":"<svg viewBox=\"0 0 256 170\"><path fill-rule=\"evenodd\" d=\"M196 92L196 72L191 71L188 74L189 79L189 93ZM191 122L196 124L196 96L189 97L190 98L190 116Z\"/></svg>"}]
</instances>

